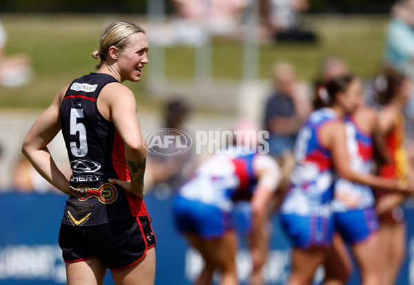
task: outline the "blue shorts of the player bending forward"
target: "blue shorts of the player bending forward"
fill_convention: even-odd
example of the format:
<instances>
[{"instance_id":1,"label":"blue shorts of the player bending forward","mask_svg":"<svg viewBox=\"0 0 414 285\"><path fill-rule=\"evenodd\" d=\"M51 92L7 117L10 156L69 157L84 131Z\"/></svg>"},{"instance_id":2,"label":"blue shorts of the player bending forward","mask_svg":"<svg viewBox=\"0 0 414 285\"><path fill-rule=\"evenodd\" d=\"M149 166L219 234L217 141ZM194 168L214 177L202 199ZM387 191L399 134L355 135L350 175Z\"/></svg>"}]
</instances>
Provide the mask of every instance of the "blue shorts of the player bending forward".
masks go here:
<instances>
[{"instance_id":1,"label":"blue shorts of the player bending forward","mask_svg":"<svg viewBox=\"0 0 414 285\"><path fill-rule=\"evenodd\" d=\"M175 224L181 233L195 233L204 239L218 239L235 228L230 213L219 207L178 196L174 202Z\"/></svg>"}]
</instances>

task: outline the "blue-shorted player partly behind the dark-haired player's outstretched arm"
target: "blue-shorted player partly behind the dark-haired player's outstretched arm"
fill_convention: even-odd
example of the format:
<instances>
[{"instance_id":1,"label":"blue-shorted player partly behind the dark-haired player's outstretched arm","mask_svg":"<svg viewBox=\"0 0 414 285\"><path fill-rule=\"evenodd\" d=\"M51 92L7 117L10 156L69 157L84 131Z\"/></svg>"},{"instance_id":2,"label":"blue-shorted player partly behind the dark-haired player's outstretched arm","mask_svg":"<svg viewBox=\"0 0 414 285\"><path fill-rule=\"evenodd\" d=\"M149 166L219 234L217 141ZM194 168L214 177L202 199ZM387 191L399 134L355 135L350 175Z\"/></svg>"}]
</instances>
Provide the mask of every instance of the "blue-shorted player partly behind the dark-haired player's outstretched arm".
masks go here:
<instances>
[{"instance_id":1,"label":"blue-shorted player partly behind the dark-haired player's outstretched arm","mask_svg":"<svg viewBox=\"0 0 414 285\"><path fill-rule=\"evenodd\" d=\"M344 122L351 170L372 173L374 153L382 162L387 159L375 110L361 106L353 115L346 116ZM332 208L335 229L351 246L362 284L381 284L380 235L377 233L380 223L372 189L339 178L335 182ZM346 284L351 273L351 258L341 237L335 236L328 250L324 284Z\"/></svg>"}]
</instances>

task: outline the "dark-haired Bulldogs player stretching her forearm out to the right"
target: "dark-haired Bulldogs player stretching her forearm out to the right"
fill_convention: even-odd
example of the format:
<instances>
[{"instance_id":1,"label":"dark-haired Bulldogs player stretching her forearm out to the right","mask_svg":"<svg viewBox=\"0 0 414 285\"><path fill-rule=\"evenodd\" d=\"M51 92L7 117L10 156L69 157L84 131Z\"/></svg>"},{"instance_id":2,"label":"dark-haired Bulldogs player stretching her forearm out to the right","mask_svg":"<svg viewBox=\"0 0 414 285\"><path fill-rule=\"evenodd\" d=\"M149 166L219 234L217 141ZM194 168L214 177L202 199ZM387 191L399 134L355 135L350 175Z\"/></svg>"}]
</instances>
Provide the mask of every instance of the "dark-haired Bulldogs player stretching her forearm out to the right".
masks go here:
<instances>
[{"instance_id":1,"label":"dark-haired Bulldogs player stretching her forearm out to the right","mask_svg":"<svg viewBox=\"0 0 414 285\"><path fill-rule=\"evenodd\" d=\"M334 171L359 184L397 188L393 179L358 174L350 168L343 118L355 112L361 100L357 77L345 75L329 81L317 92L316 110L299 132L296 165L281 206L282 225L293 242L290 285L311 284L317 267L326 259L334 229Z\"/></svg>"}]
</instances>

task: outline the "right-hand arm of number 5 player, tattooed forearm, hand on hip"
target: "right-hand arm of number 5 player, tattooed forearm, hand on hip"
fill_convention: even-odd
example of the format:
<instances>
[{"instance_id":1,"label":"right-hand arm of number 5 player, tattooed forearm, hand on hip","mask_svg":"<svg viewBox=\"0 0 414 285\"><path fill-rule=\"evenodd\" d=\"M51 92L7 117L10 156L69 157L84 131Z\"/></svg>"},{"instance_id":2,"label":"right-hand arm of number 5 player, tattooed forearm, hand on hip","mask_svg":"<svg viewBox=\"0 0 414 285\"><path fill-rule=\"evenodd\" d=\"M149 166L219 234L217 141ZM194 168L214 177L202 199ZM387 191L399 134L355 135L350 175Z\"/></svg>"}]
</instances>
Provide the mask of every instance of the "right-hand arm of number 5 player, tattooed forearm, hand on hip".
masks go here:
<instances>
[{"instance_id":1,"label":"right-hand arm of number 5 player, tattooed forearm, hand on hip","mask_svg":"<svg viewBox=\"0 0 414 285\"><path fill-rule=\"evenodd\" d=\"M137 197L144 196L146 149L139 121L137 103L131 90L119 83L108 84L103 92L103 103L108 103L110 119L115 124L125 146L125 159L130 173L130 183L112 179Z\"/></svg>"}]
</instances>

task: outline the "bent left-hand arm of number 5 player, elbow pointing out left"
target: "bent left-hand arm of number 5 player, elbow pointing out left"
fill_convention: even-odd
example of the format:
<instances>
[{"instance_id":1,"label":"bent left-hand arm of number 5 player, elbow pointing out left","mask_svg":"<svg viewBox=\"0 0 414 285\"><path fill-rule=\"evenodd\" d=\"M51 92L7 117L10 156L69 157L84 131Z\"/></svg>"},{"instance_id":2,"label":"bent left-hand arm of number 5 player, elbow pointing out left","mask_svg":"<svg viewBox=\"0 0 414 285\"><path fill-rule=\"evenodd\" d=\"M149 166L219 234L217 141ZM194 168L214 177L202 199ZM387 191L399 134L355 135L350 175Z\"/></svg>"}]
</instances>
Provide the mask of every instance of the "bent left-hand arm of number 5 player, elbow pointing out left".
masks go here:
<instances>
[{"instance_id":1,"label":"bent left-hand arm of number 5 player, elbow pointing out left","mask_svg":"<svg viewBox=\"0 0 414 285\"><path fill-rule=\"evenodd\" d=\"M67 87L63 88L49 108L34 122L23 141L22 152L41 176L63 193L69 194L69 181L57 168L47 147L61 129L60 105L66 90Z\"/></svg>"}]
</instances>

